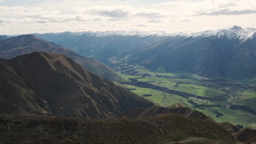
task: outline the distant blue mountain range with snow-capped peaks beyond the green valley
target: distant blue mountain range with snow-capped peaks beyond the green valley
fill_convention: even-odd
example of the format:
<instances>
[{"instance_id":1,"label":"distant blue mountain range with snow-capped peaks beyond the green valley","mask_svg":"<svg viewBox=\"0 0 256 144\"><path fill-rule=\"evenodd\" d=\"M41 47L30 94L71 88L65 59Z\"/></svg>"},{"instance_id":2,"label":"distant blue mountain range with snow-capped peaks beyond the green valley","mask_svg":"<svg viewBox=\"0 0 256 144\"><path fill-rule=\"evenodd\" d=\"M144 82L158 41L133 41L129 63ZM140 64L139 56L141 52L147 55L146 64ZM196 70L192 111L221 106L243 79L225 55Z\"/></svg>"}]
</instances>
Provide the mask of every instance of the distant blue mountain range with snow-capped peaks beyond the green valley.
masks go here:
<instances>
[{"instance_id":1,"label":"distant blue mountain range with snow-capped peaks beyond the green valley","mask_svg":"<svg viewBox=\"0 0 256 144\"><path fill-rule=\"evenodd\" d=\"M142 65L165 72L190 71L205 77L255 77L255 28L174 35L145 32L64 32L36 34L104 63Z\"/></svg>"}]
</instances>

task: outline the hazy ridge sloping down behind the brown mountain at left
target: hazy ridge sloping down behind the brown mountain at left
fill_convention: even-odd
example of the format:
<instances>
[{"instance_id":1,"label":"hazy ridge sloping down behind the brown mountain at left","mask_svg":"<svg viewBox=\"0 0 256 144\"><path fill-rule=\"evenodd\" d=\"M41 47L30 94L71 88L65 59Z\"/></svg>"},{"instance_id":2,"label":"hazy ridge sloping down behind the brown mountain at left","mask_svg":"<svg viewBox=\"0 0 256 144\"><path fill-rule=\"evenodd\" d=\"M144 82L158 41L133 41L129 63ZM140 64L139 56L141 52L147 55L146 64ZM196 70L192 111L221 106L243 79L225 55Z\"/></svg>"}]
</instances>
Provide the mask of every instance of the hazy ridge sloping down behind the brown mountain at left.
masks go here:
<instances>
[{"instance_id":1,"label":"hazy ridge sloping down behind the brown mountain at left","mask_svg":"<svg viewBox=\"0 0 256 144\"><path fill-rule=\"evenodd\" d=\"M20 35L9 39L0 40L0 58L10 59L19 55L32 53L36 51L50 52L56 54L64 54L71 57L74 61L90 70L96 75L100 75L105 79L118 81L121 80L112 68L100 62L93 61L68 50L66 47L42 40L34 35Z\"/></svg>"}]
</instances>

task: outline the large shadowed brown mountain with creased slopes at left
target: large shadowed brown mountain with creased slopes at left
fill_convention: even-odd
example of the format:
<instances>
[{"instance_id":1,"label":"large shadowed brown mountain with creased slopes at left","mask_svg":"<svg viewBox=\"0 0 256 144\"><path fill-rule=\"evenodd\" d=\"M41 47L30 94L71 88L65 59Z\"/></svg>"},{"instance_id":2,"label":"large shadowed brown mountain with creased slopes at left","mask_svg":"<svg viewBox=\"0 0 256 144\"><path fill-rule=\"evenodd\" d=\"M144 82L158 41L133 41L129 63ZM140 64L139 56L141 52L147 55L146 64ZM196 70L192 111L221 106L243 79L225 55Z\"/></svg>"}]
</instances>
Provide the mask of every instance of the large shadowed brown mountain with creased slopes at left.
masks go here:
<instances>
[{"instance_id":1,"label":"large shadowed brown mountain with creased slopes at left","mask_svg":"<svg viewBox=\"0 0 256 144\"><path fill-rule=\"evenodd\" d=\"M0 66L0 113L108 118L153 106L65 55L34 52Z\"/></svg>"}]
</instances>

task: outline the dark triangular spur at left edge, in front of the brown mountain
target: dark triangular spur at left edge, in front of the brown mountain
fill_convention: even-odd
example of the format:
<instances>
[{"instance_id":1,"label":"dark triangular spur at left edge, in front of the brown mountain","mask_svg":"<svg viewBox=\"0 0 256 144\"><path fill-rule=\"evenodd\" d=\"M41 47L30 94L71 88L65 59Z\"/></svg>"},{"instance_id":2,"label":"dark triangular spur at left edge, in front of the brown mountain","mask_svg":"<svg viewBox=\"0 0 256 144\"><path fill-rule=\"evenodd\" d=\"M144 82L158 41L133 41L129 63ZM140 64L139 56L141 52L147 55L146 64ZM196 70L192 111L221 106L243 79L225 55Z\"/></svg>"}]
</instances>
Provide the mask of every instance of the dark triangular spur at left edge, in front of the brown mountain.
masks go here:
<instances>
[{"instance_id":1,"label":"dark triangular spur at left edge, in front of the brown mountain","mask_svg":"<svg viewBox=\"0 0 256 144\"><path fill-rule=\"evenodd\" d=\"M5 63L7 61L0 59L0 113L53 116L49 104Z\"/></svg>"}]
</instances>

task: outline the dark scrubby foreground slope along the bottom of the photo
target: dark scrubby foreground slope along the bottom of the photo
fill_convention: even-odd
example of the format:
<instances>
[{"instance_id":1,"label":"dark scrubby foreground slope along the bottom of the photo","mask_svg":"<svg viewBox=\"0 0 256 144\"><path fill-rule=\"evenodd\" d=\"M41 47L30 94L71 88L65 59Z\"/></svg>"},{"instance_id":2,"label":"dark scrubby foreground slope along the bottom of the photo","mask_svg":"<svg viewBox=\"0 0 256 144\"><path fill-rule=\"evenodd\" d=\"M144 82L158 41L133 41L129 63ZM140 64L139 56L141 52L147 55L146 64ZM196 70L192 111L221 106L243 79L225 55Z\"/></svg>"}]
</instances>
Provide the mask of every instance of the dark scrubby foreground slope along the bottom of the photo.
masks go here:
<instances>
[{"instance_id":1,"label":"dark scrubby foreground slope along the bottom of the photo","mask_svg":"<svg viewBox=\"0 0 256 144\"><path fill-rule=\"evenodd\" d=\"M217 123L177 114L142 119L0 115L0 135L0 143L169 143L188 137L202 143L237 142Z\"/></svg>"}]
</instances>

